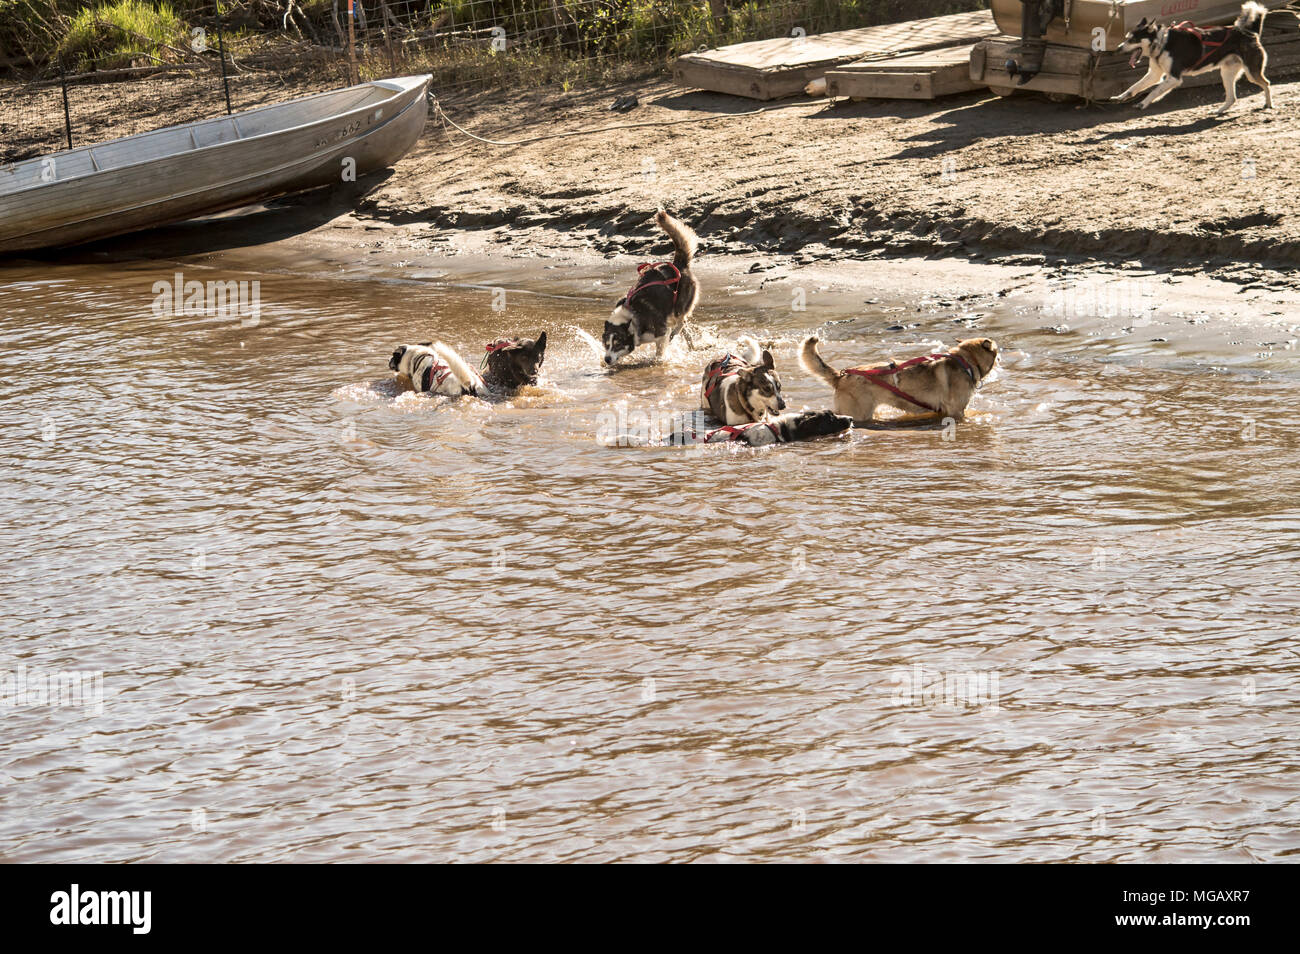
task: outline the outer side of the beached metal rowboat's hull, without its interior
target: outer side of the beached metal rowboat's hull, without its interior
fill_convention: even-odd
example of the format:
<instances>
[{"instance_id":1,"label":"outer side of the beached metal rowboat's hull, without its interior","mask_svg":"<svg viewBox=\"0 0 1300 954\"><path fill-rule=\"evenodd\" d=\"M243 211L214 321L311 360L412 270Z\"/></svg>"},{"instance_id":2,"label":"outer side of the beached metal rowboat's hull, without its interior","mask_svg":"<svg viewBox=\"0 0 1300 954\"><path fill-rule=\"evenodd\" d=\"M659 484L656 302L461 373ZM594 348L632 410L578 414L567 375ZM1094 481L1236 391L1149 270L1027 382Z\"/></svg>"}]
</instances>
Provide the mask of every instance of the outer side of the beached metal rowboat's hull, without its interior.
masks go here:
<instances>
[{"instance_id":1,"label":"outer side of the beached metal rowboat's hull, without its interior","mask_svg":"<svg viewBox=\"0 0 1300 954\"><path fill-rule=\"evenodd\" d=\"M415 79L378 103L289 129L0 194L0 252L110 238L384 169L410 151L424 130L428 77ZM234 114L231 130L254 112ZM212 134L211 121L203 126L204 135ZM109 146L87 148L107 151ZM46 168L57 177L60 156L72 155L26 162L25 172L34 174L40 161L52 161Z\"/></svg>"}]
</instances>

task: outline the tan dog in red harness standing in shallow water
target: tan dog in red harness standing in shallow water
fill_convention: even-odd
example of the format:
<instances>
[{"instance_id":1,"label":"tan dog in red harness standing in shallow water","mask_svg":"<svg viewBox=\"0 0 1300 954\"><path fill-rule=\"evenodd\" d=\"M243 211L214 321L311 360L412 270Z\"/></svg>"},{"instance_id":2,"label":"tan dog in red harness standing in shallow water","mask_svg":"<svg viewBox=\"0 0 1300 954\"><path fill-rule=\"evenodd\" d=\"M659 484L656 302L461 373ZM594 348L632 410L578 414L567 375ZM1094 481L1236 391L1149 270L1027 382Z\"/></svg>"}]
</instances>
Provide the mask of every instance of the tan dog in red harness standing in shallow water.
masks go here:
<instances>
[{"instance_id":1,"label":"tan dog in red harness standing in shallow water","mask_svg":"<svg viewBox=\"0 0 1300 954\"><path fill-rule=\"evenodd\" d=\"M800 350L803 369L831 385L832 407L858 424L875 419L876 408L892 407L907 420L961 417L975 389L997 364L992 338L967 338L946 354L924 355L910 361L878 361L846 370L828 365L809 338Z\"/></svg>"}]
</instances>

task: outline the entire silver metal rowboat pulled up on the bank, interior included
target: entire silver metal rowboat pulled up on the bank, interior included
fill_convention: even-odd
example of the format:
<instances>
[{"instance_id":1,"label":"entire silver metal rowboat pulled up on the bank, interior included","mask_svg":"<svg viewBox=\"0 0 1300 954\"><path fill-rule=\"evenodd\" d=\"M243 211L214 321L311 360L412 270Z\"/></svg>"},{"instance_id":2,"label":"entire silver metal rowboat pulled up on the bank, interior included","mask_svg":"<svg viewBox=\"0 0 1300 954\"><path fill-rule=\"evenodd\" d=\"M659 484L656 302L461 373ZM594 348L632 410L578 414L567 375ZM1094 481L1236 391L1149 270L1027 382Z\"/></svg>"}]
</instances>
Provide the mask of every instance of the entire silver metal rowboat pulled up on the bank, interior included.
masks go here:
<instances>
[{"instance_id":1,"label":"entire silver metal rowboat pulled up on the bank, interior included","mask_svg":"<svg viewBox=\"0 0 1300 954\"><path fill-rule=\"evenodd\" d=\"M420 138L429 77L378 79L0 165L0 253L70 246L384 169Z\"/></svg>"}]
</instances>

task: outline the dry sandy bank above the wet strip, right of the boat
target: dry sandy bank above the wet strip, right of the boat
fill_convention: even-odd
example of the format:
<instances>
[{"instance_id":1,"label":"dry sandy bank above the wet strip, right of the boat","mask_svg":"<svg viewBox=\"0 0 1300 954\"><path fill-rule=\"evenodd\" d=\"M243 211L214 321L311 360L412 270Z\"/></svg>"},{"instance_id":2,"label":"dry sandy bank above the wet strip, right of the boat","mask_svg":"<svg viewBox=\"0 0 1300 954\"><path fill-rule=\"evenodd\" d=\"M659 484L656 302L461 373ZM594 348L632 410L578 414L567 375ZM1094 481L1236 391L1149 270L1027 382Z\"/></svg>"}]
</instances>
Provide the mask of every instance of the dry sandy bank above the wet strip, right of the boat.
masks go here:
<instances>
[{"instance_id":1,"label":"dry sandy bank above the wet strip, right of the boat","mask_svg":"<svg viewBox=\"0 0 1300 954\"><path fill-rule=\"evenodd\" d=\"M1243 88L1243 92L1245 90ZM367 216L437 230L494 230L499 244L651 252L659 204L707 252L794 264L897 255L1044 256L1141 264L1254 287L1291 285L1300 196L1290 188L1300 86L1277 109L1249 95L1213 117L1214 88L1150 112L970 94L937 103L757 103L667 83L578 94L500 94L434 116ZM642 105L610 113L616 95ZM749 113L749 114L746 114ZM590 131L623 122L710 122ZM1014 261L1026 261L1014 259Z\"/></svg>"}]
</instances>

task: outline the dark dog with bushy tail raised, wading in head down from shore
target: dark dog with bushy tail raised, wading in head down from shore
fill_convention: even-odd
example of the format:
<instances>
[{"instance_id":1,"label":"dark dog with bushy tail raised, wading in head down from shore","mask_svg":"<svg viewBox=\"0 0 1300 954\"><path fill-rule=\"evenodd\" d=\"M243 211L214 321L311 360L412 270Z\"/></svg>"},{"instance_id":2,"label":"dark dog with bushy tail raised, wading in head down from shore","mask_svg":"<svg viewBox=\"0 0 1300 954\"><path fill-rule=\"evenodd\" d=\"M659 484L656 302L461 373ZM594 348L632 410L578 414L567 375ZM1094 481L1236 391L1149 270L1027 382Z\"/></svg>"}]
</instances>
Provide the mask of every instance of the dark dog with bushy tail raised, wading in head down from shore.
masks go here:
<instances>
[{"instance_id":1,"label":"dark dog with bushy tail raised, wading in head down from shore","mask_svg":"<svg viewBox=\"0 0 1300 954\"><path fill-rule=\"evenodd\" d=\"M604 322L606 365L615 364L641 344L655 343L655 359L681 330L699 300L699 285L690 270L699 239L686 225L663 209L654 217L672 239L672 261L646 263L637 268L637 283Z\"/></svg>"}]
</instances>

